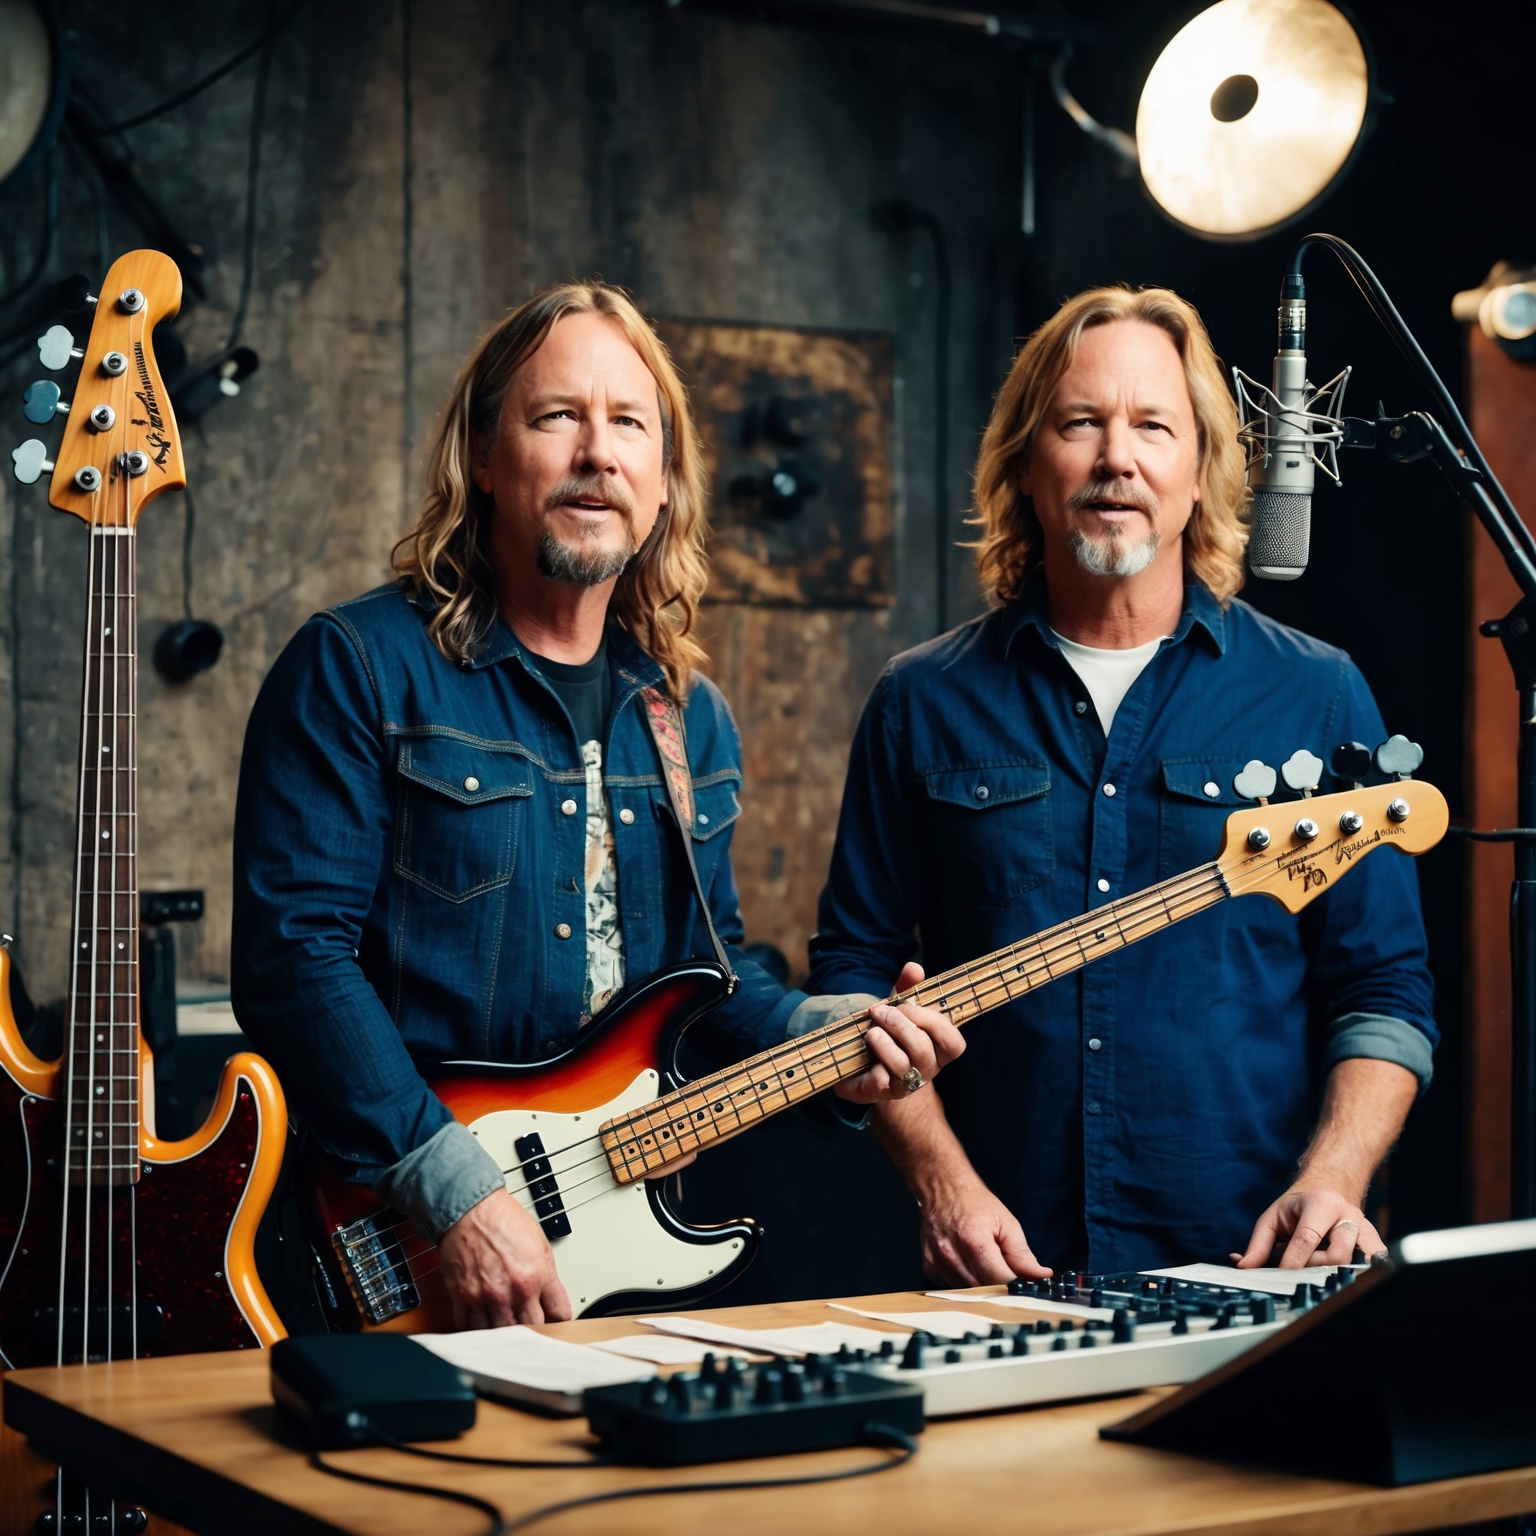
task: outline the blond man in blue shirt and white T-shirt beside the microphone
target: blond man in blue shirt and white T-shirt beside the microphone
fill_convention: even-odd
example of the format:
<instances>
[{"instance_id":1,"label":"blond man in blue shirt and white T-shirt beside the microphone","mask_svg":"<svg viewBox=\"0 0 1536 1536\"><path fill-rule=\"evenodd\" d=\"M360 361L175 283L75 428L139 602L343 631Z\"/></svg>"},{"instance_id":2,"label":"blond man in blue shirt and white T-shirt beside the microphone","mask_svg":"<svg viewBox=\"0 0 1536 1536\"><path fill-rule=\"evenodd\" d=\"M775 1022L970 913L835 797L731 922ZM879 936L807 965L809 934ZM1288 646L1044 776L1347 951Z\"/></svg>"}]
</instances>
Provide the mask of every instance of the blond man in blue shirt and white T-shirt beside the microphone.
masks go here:
<instances>
[{"instance_id":1,"label":"blond man in blue shirt and white T-shirt beside the microphone","mask_svg":"<svg viewBox=\"0 0 1536 1536\"><path fill-rule=\"evenodd\" d=\"M992 611L869 699L814 988L868 988L917 935L948 969L1204 865L1249 760L1385 734L1347 656L1233 599L1236 410L1166 289L1080 293L1029 338L975 507ZM1299 920L1223 902L1003 1006L876 1129L940 1281L1347 1263L1382 1247L1367 1184L1436 1038L1412 862L1373 859Z\"/></svg>"}]
</instances>

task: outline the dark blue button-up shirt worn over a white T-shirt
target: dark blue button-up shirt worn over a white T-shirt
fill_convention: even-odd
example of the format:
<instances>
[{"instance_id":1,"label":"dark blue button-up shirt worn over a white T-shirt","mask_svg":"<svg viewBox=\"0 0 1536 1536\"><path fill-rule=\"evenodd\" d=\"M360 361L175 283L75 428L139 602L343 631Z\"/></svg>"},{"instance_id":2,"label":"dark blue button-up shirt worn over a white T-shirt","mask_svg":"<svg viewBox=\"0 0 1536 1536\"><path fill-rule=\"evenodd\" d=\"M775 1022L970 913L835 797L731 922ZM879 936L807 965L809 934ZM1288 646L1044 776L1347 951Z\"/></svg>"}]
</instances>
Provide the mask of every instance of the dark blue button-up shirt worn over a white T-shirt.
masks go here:
<instances>
[{"instance_id":1,"label":"dark blue button-up shirt worn over a white T-shirt","mask_svg":"<svg viewBox=\"0 0 1536 1536\"><path fill-rule=\"evenodd\" d=\"M809 985L879 991L919 934L937 972L1203 865L1249 759L1384 736L1344 653L1189 587L1106 740L1037 573L876 685ZM1221 902L978 1018L938 1091L1043 1263L1224 1261L1290 1183L1333 1063L1428 1081L1432 1006L1413 862L1381 851L1298 917Z\"/></svg>"}]
</instances>

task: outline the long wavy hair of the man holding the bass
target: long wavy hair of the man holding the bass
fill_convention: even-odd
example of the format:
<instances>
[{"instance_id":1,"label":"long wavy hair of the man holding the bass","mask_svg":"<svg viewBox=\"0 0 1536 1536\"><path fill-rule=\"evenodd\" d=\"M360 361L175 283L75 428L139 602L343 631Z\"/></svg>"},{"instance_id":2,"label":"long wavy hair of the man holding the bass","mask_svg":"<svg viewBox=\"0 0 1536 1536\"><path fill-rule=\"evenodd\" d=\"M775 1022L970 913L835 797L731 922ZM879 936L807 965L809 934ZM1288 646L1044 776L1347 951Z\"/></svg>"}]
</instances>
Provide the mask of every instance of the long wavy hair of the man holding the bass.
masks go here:
<instances>
[{"instance_id":1,"label":"long wavy hair of the man holding the bass","mask_svg":"<svg viewBox=\"0 0 1536 1536\"><path fill-rule=\"evenodd\" d=\"M475 484L476 455L496 435L513 375L562 315L581 313L607 315L619 326L660 395L667 505L614 584L608 613L656 660L668 691L680 702L688 696L693 668L705 659L693 637L708 581L703 461L671 356L621 289L607 283L547 287L481 339L449 395L427 464L421 516L395 545L395 573L433 607L427 631L449 660L468 660L484 648L496 622L490 558L495 502Z\"/></svg>"}]
</instances>

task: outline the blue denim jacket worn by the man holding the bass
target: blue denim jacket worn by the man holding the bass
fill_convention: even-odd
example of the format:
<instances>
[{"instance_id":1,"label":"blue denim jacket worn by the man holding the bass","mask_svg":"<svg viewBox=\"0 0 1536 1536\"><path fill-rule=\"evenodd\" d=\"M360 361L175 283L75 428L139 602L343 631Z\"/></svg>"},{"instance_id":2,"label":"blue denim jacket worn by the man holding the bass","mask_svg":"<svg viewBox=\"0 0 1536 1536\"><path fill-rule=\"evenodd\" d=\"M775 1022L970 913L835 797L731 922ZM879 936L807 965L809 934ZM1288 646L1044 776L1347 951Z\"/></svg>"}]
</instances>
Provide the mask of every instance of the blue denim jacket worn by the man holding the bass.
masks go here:
<instances>
[{"instance_id":1,"label":"blue denim jacket worn by the man holding the bass","mask_svg":"<svg viewBox=\"0 0 1536 1536\"><path fill-rule=\"evenodd\" d=\"M604 779L625 975L641 980L710 954L710 940L636 697L662 671L617 627L608 664ZM743 935L730 860L740 737L703 677L685 723L694 859L733 946ZM375 1183L438 1141L456 1152L435 1187L462 1183L476 1158L482 1187L470 1193L499 1184L472 1138L453 1143L415 1063L539 1061L576 1040L585 779L565 707L499 621L484 653L458 665L427 637L427 613L381 587L316 614L273 665L240 766L233 1006L355 1180ZM731 962L740 989L711 1020L743 1054L777 1043L805 994L739 952ZM475 1198L461 1195L449 1218ZM412 1209L409 1195L401 1203Z\"/></svg>"}]
</instances>

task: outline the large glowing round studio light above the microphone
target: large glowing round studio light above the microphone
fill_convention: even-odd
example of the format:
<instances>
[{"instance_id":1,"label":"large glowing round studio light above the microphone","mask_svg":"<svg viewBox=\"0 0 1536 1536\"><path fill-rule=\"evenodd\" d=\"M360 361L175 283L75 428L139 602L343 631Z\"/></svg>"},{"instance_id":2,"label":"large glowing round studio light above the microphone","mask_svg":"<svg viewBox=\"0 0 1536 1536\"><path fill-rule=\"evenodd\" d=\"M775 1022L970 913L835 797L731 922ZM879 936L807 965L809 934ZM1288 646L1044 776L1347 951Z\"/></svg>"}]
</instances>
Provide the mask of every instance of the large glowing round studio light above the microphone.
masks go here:
<instances>
[{"instance_id":1,"label":"large glowing round studio light above the microphone","mask_svg":"<svg viewBox=\"0 0 1536 1536\"><path fill-rule=\"evenodd\" d=\"M1137 109L1141 175L1180 224L1253 240L1333 184L1369 103L1366 49L1327 0L1220 0L1147 75Z\"/></svg>"}]
</instances>

